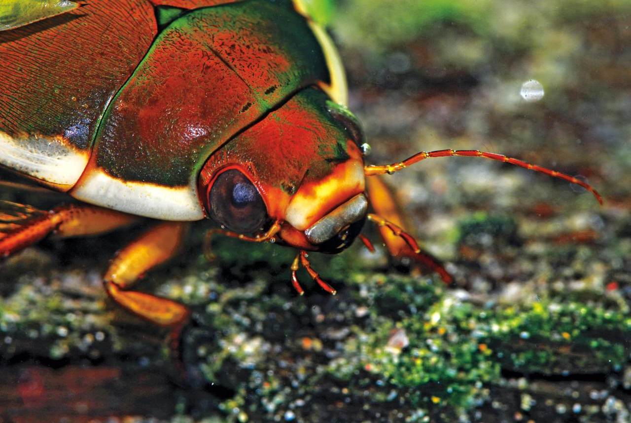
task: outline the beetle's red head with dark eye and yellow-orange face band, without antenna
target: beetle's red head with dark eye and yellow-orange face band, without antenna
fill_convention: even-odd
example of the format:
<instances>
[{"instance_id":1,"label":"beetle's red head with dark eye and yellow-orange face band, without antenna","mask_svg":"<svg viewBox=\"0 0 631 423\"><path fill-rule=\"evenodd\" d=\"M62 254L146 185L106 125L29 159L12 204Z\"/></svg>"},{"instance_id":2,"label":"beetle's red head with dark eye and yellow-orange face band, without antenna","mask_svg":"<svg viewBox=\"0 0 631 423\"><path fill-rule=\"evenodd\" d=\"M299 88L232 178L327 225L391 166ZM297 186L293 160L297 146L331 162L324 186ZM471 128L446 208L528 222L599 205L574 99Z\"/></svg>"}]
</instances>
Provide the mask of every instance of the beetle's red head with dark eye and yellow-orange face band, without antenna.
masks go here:
<instances>
[{"instance_id":1,"label":"beetle's red head with dark eye and yellow-orange face band, without antenna","mask_svg":"<svg viewBox=\"0 0 631 423\"><path fill-rule=\"evenodd\" d=\"M306 88L211 155L199 177L206 213L238 234L278 222L281 243L337 253L367 213L360 143L357 119Z\"/></svg>"}]
</instances>

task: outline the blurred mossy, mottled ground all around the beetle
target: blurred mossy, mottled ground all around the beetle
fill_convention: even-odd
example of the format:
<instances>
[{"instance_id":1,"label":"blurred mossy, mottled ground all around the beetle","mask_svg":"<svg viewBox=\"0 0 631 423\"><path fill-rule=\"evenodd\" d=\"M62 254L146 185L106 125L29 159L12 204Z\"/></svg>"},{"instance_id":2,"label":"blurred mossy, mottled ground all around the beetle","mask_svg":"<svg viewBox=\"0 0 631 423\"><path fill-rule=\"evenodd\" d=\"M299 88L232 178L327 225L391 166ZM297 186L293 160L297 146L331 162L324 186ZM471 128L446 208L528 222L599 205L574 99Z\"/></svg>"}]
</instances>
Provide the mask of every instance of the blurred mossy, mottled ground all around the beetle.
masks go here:
<instances>
[{"instance_id":1,"label":"blurred mossy, mottled ground all around the beetle","mask_svg":"<svg viewBox=\"0 0 631 423\"><path fill-rule=\"evenodd\" d=\"M308 2L309 3L309 2ZM182 351L105 297L123 242L38 244L1 265L0 422L631 421L631 2L312 0L372 164L446 286L377 244L312 254L201 235L140 285L189 304ZM15 194L5 194L10 197ZM196 226L203 234L205 223ZM359 244L359 243L356 243ZM86 254L90 251L90 254Z\"/></svg>"}]
</instances>

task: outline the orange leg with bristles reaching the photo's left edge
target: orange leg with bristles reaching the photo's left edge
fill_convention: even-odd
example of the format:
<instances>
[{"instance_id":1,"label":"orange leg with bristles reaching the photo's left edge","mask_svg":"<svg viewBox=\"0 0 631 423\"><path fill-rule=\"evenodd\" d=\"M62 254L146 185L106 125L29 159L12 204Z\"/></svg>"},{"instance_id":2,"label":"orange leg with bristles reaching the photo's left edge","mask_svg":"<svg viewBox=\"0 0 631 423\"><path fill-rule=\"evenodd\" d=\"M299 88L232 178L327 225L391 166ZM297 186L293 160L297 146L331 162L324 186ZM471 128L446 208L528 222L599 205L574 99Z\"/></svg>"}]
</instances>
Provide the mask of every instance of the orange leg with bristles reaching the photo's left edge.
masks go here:
<instances>
[{"instance_id":1,"label":"orange leg with bristles reaching the photo's left edge","mask_svg":"<svg viewBox=\"0 0 631 423\"><path fill-rule=\"evenodd\" d=\"M54 232L61 237L98 235L133 223L137 217L107 208L68 205L42 212L24 206L30 217L10 222L11 230L0 234L0 256L9 256ZM5 220L6 222L6 220Z\"/></svg>"}]
</instances>

